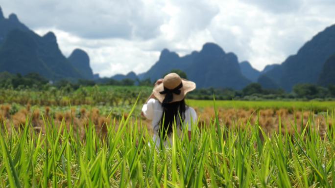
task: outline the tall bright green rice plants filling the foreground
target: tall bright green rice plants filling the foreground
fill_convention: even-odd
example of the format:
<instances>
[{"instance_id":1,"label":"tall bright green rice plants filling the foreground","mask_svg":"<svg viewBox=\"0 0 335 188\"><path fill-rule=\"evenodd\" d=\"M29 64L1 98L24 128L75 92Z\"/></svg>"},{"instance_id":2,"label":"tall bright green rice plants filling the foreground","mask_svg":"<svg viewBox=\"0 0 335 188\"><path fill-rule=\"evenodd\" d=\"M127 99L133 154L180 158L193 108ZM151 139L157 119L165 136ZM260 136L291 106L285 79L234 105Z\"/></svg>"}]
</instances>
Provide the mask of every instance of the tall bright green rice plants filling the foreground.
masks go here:
<instances>
[{"instance_id":1,"label":"tall bright green rice plants filling the foreground","mask_svg":"<svg viewBox=\"0 0 335 188\"><path fill-rule=\"evenodd\" d=\"M282 133L279 122L279 131L269 134L258 121L227 127L215 110L209 125L191 125L191 139L188 125L180 135L173 125L172 143L161 149L155 147L146 125L131 116L135 108L126 118L114 117L105 135L98 134L90 121L80 127L84 138L72 124L67 127L63 121L56 126L43 114L45 133L34 130L30 119L10 132L1 122L0 187L335 186L335 129L327 123L321 138L312 116L301 131L294 121L293 133ZM325 117L334 122L334 111Z\"/></svg>"}]
</instances>

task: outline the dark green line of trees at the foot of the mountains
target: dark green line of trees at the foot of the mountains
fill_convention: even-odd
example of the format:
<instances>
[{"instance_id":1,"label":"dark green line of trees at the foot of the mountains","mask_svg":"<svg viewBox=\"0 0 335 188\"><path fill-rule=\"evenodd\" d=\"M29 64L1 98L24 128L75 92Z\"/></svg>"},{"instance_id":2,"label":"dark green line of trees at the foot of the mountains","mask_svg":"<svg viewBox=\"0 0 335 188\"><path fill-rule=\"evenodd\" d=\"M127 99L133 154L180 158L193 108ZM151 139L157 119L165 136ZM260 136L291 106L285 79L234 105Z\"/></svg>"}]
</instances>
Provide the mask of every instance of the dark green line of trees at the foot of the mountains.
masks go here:
<instances>
[{"instance_id":1,"label":"dark green line of trees at the foot of the mountains","mask_svg":"<svg viewBox=\"0 0 335 188\"><path fill-rule=\"evenodd\" d=\"M172 70L187 79L187 75L180 70ZM164 77L165 75L163 75ZM65 88L65 90L73 91L82 86L93 85L140 85L152 86L150 79L145 80L115 80L112 78L102 78L98 80L58 80L55 82L48 81L37 73L29 73L27 75L10 74L8 72L0 73L0 87L5 89L22 89L29 88L35 90L45 90L48 87ZM66 89L67 88L67 89ZM261 84L251 83L242 90L234 90L231 88L198 88L191 92L188 97L191 99L212 100L213 96L217 100L281 100L281 99L301 99L301 100L334 100L335 85L327 87L316 84L297 84L289 93L283 89L265 89Z\"/></svg>"}]
</instances>

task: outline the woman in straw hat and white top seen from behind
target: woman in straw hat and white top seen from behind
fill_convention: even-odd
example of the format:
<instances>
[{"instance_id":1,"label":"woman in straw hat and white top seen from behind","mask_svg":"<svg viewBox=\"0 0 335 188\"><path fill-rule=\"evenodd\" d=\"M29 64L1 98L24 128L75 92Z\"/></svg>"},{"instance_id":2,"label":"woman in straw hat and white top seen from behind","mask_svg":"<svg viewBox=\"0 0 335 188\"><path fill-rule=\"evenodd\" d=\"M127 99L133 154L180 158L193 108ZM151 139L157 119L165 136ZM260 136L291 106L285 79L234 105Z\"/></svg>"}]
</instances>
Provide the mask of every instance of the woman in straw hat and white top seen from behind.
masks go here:
<instances>
[{"instance_id":1,"label":"woman in straw hat and white top seen from behind","mask_svg":"<svg viewBox=\"0 0 335 188\"><path fill-rule=\"evenodd\" d=\"M155 83L153 92L142 107L142 115L152 120L153 141L156 146L172 144L172 124L176 122L176 131L188 127L191 139L191 123L195 123L195 110L185 104L185 95L195 89L195 83L181 79L176 73L170 73ZM161 138L162 135L162 138ZM168 139L167 139L168 138Z\"/></svg>"}]
</instances>

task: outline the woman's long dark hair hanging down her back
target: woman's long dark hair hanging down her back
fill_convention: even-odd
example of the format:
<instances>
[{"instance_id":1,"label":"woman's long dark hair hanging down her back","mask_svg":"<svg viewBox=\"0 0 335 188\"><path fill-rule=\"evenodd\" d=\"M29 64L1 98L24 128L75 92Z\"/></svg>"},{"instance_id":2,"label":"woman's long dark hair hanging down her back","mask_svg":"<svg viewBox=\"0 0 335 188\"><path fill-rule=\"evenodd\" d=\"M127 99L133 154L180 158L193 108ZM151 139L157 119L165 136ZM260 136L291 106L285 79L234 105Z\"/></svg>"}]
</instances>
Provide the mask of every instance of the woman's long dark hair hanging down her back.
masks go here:
<instances>
[{"instance_id":1,"label":"woman's long dark hair hanging down her back","mask_svg":"<svg viewBox=\"0 0 335 188\"><path fill-rule=\"evenodd\" d=\"M182 101L178 102L162 104L162 106L164 110L159 126L159 133L162 133L163 137L165 138L165 135L169 136L171 134L174 120L176 120L177 125L181 125L182 122L184 122L186 104L185 100L183 99Z\"/></svg>"}]
</instances>

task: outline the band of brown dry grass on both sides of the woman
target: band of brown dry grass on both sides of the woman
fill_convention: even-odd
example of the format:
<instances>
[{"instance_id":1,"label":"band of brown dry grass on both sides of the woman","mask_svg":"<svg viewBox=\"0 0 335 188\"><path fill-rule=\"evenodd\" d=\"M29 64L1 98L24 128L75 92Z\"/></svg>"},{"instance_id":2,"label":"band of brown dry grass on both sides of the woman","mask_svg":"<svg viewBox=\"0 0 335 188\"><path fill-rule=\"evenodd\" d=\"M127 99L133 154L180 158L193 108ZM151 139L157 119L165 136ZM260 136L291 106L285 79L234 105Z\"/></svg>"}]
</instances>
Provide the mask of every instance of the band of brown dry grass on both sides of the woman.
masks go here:
<instances>
[{"instance_id":1,"label":"band of brown dry grass on both sides of the woman","mask_svg":"<svg viewBox=\"0 0 335 188\"><path fill-rule=\"evenodd\" d=\"M23 125L25 125L25 122L29 119L31 120L31 125L34 129L45 133L44 118L46 122L53 120L54 125L56 126L61 125L61 122L64 121L64 125L67 129L69 129L70 124L72 124L73 129L79 133L81 138L83 138L85 136L83 127L87 127L90 121L95 125L98 134L106 134L107 125L110 125L111 121L114 120L114 117L101 115L97 108L81 108L78 112L75 108L72 108L71 110L62 112L52 111L50 107L46 106L44 111L42 111L40 109L31 110L30 104L27 104L25 108L20 109L13 115L10 115L10 109L11 106L8 104L0 106L0 121L6 125L8 132L11 131L11 125L13 125L15 129L23 128ZM199 116L199 127L210 125L214 122L215 111L213 107L195 107L195 110ZM124 114L123 117L127 118L128 115ZM319 133L322 137L325 136L327 124L327 118L322 115L314 114L311 111L294 112L284 108L278 110L219 108L218 120L221 125L230 128L244 128L248 122L252 125L255 125L258 122L258 125L263 127L263 130L267 134L279 132L280 130L282 133L288 132L289 134L292 134L295 131L294 128L296 128L298 132L301 132L305 126L308 125L310 120L310 122L313 122L311 127L319 129ZM132 121L135 121L135 119L133 118ZM145 119L142 119L142 121L147 125L149 132L152 132L150 121ZM332 126L332 118L328 121L329 125ZM116 122L118 125L119 120L116 119ZM138 125L140 125L140 123L138 123ZM281 127L279 127L280 125Z\"/></svg>"}]
</instances>

